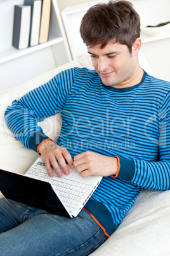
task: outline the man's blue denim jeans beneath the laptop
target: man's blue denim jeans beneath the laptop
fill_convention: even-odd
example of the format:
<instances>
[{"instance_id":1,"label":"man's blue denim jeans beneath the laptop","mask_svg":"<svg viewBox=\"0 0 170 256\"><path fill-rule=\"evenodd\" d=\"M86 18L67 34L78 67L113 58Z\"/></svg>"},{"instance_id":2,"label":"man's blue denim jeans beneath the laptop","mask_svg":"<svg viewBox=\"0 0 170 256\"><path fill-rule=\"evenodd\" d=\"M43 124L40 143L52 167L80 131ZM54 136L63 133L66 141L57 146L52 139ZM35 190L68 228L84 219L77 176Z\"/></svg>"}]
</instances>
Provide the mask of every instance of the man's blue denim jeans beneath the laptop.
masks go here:
<instances>
[{"instance_id":1,"label":"man's blue denim jeans beneath the laptop","mask_svg":"<svg viewBox=\"0 0 170 256\"><path fill-rule=\"evenodd\" d=\"M1 256L89 255L106 239L87 211L67 218L0 199Z\"/></svg>"}]
</instances>

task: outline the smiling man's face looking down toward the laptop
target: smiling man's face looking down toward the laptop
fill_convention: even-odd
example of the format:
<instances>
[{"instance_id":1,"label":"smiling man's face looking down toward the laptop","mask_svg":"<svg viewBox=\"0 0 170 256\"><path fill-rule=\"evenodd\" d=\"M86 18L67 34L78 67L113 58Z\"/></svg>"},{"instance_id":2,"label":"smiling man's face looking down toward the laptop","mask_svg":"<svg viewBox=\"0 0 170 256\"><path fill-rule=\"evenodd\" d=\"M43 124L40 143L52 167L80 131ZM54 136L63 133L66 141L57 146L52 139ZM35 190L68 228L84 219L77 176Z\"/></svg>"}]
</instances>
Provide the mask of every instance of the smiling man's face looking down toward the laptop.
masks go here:
<instances>
[{"instance_id":1,"label":"smiling man's face looking down toward the laptop","mask_svg":"<svg viewBox=\"0 0 170 256\"><path fill-rule=\"evenodd\" d=\"M135 61L128 46L120 43L108 43L101 49L100 45L88 46L92 63L104 85L115 88L133 86L135 80Z\"/></svg>"}]
</instances>

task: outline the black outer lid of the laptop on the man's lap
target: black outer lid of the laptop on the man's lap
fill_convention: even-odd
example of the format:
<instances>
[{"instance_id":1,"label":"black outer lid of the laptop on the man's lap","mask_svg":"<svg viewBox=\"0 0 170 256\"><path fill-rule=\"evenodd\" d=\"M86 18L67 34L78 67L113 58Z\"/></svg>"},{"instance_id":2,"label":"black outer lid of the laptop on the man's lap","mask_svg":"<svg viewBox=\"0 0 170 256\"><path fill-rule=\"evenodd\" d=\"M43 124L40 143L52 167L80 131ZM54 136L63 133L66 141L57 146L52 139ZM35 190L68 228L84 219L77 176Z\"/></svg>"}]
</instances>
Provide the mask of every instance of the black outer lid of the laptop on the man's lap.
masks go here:
<instances>
[{"instance_id":1,"label":"black outer lid of the laptop on the man's lap","mask_svg":"<svg viewBox=\"0 0 170 256\"><path fill-rule=\"evenodd\" d=\"M0 169L0 190L8 199L70 217L48 182Z\"/></svg>"}]
</instances>

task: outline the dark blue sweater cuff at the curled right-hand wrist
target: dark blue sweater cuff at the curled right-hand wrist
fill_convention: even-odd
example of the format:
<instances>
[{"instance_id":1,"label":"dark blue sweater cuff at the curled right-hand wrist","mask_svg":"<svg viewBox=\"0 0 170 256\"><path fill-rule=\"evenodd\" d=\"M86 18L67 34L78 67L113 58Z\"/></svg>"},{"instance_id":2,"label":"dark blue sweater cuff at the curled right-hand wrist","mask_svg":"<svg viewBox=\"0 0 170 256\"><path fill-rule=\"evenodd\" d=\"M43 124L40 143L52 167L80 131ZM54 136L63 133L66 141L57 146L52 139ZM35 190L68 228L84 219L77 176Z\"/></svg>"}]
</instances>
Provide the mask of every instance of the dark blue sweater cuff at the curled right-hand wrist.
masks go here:
<instances>
[{"instance_id":1,"label":"dark blue sweater cuff at the curled right-hand wrist","mask_svg":"<svg viewBox=\"0 0 170 256\"><path fill-rule=\"evenodd\" d=\"M131 159L120 159L120 170L117 178L126 180L126 181L131 181L133 180L134 177L134 172L135 172L135 164L134 160Z\"/></svg>"}]
</instances>

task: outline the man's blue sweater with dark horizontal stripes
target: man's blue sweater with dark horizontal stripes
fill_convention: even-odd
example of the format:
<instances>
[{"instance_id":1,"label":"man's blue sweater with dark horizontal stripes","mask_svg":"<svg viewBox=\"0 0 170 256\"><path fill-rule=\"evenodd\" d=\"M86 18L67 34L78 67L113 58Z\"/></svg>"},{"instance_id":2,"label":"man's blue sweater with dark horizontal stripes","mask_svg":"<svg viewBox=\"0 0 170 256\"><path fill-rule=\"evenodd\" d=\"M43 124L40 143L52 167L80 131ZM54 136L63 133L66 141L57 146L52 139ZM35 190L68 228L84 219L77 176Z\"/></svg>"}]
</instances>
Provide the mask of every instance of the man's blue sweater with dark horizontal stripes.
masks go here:
<instances>
[{"instance_id":1,"label":"man's blue sweater with dark horizontal stripes","mask_svg":"<svg viewBox=\"0 0 170 256\"><path fill-rule=\"evenodd\" d=\"M117 178L103 177L85 205L110 236L143 188L168 190L170 180L170 83L144 72L138 85L103 85L96 71L67 69L13 101L5 112L15 138L37 150L48 138L37 122L61 113L56 143L72 157L93 151L120 159Z\"/></svg>"}]
</instances>

